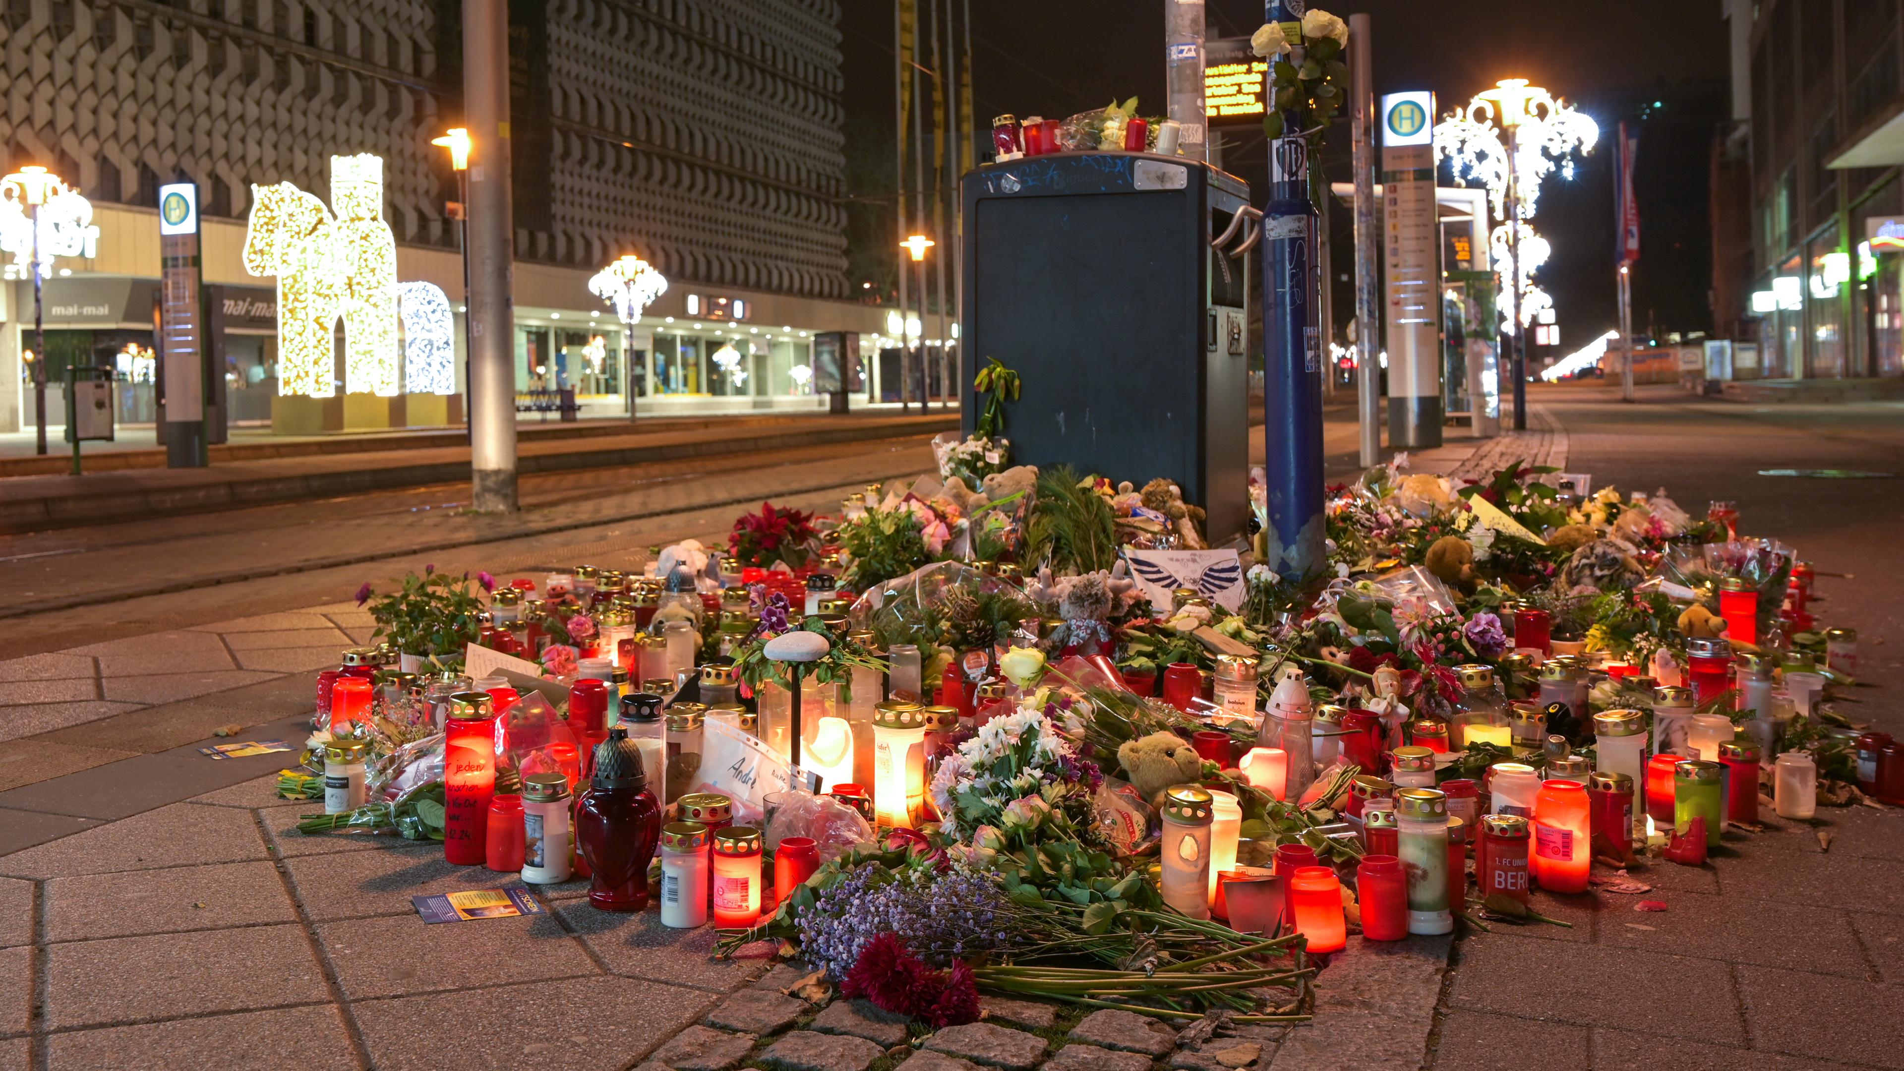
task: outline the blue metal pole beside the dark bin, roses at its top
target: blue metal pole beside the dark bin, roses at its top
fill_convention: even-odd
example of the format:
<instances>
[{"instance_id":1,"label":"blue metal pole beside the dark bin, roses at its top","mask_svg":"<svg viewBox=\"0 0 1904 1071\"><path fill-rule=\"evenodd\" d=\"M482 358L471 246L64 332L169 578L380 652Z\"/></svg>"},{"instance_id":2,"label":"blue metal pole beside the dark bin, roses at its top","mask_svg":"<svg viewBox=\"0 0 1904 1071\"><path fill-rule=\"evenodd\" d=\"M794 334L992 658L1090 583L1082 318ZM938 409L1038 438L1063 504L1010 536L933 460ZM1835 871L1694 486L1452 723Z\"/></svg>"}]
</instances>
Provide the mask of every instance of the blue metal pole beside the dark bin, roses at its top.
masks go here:
<instances>
[{"instance_id":1,"label":"blue metal pole beside the dark bin, roses at its top","mask_svg":"<svg viewBox=\"0 0 1904 1071\"><path fill-rule=\"evenodd\" d=\"M1300 6L1293 8L1300 11ZM1281 0L1268 0L1272 23L1291 23ZM1299 38L1300 40L1300 38ZM1289 59L1302 63L1302 48ZM1318 217L1310 202L1308 143L1297 114L1283 114L1283 137L1270 141L1270 200L1262 206L1262 404L1264 480L1270 524L1264 564L1287 577L1325 572L1321 511L1321 343L1318 324Z\"/></svg>"}]
</instances>

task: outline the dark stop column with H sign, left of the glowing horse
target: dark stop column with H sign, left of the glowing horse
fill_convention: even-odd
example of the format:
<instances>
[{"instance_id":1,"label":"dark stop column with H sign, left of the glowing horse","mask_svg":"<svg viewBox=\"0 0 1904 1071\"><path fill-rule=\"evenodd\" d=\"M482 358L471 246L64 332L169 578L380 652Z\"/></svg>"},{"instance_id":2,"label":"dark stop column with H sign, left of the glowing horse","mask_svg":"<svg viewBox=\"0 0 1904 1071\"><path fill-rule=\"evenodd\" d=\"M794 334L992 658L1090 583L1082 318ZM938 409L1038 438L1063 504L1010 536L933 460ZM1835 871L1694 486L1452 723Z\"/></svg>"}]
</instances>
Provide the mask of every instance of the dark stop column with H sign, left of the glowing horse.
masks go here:
<instances>
[{"instance_id":1,"label":"dark stop column with H sign, left of the glowing horse","mask_svg":"<svg viewBox=\"0 0 1904 1071\"><path fill-rule=\"evenodd\" d=\"M206 454L204 307L198 299L198 187L158 187L158 353L164 368L166 467L202 469Z\"/></svg>"}]
</instances>

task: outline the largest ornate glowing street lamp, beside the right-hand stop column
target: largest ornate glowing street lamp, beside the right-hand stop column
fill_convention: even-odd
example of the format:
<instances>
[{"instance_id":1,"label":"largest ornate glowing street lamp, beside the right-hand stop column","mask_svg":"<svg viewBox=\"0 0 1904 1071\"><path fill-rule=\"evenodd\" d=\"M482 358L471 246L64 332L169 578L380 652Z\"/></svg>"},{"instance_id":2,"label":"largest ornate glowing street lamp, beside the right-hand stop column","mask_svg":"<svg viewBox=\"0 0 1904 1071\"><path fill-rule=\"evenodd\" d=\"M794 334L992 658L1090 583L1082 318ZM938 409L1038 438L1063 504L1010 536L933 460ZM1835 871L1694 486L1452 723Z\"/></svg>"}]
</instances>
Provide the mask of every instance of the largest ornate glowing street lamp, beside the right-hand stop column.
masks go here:
<instances>
[{"instance_id":1,"label":"largest ornate glowing street lamp, beside the right-hand stop column","mask_svg":"<svg viewBox=\"0 0 1904 1071\"><path fill-rule=\"evenodd\" d=\"M1577 152L1592 152L1599 126L1525 78L1502 78L1476 93L1468 107L1436 124L1436 154L1447 156L1455 181L1487 187L1495 215L1489 253L1500 278L1500 330L1508 335L1514 366L1514 427L1527 427L1527 324L1552 309L1554 299L1535 286L1533 273L1550 253L1548 240L1533 229L1540 183L1559 170L1573 177Z\"/></svg>"}]
</instances>

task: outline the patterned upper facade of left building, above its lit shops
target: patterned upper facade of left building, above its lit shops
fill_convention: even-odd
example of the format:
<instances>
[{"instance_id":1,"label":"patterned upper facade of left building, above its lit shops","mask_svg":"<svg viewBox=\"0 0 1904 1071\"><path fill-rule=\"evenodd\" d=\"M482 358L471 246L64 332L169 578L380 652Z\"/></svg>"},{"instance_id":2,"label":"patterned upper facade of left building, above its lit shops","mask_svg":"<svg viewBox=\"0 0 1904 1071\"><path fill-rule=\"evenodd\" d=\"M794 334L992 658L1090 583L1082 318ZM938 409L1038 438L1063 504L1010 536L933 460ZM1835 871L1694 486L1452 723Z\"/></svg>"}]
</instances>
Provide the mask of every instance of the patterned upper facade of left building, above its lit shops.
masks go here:
<instances>
[{"instance_id":1,"label":"patterned upper facade of left building, above its lit shops","mask_svg":"<svg viewBox=\"0 0 1904 1071\"><path fill-rule=\"evenodd\" d=\"M0 151L99 202L200 183L324 196L333 152L385 158L398 242L449 246L453 0L8 0ZM845 295L836 0L516 0L516 257Z\"/></svg>"}]
</instances>

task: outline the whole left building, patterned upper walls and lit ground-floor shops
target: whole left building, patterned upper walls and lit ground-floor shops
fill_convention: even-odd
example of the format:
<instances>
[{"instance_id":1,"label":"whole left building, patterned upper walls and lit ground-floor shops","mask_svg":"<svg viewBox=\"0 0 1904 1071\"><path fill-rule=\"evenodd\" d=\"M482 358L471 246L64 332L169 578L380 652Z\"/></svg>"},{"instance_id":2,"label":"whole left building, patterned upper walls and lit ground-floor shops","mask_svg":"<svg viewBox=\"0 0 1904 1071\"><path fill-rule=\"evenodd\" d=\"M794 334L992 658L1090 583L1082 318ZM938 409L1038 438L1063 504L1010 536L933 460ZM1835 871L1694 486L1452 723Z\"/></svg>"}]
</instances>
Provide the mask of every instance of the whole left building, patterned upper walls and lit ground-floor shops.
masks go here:
<instances>
[{"instance_id":1,"label":"whole left building, patterned upper walls and lit ground-floor shops","mask_svg":"<svg viewBox=\"0 0 1904 1071\"><path fill-rule=\"evenodd\" d=\"M845 301L836 21L836 0L510 2L524 385L623 406L630 379L657 400L779 398L800 393L788 372L813 333L882 326ZM53 366L61 347L107 362L150 345L160 185L198 185L206 282L257 305L270 280L232 248L251 185L327 198L333 154L383 156L400 273L457 301L457 179L430 139L461 122L459 23L457 0L0 0L4 162L51 168L101 227L97 257L63 257L46 284ZM586 278L630 252L672 286L623 339ZM17 427L30 284L0 297L0 425ZM697 320L718 297L743 297L752 326ZM274 391L268 318L227 330L234 389ZM625 341L638 362L604 364ZM725 345L739 364L710 360Z\"/></svg>"}]
</instances>

